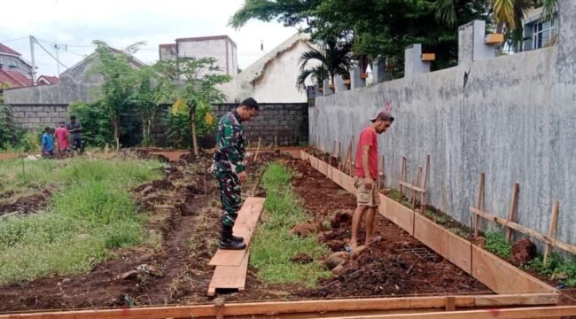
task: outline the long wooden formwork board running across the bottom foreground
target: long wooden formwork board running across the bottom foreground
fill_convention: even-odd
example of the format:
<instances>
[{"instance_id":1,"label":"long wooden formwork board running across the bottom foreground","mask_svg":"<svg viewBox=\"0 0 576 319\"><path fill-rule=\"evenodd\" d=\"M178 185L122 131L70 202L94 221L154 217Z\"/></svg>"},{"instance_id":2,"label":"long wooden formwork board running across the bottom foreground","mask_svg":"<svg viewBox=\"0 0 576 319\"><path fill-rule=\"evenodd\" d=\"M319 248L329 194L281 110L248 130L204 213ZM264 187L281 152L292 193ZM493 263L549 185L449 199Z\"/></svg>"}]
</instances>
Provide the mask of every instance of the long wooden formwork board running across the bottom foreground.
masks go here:
<instances>
[{"instance_id":1,"label":"long wooden formwork board running across the bottom foreground","mask_svg":"<svg viewBox=\"0 0 576 319\"><path fill-rule=\"evenodd\" d=\"M302 315L305 318L320 316L342 317L346 312L378 311L376 317L387 318L390 313L408 315L432 315L433 318L493 318L494 311L527 314L530 311L550 311L557 314L560 307L550 307L557 303L556 293L520 295L454 295L419 296L397 298L367 298L344 300L295 300L224 303L220 300L212 305L133 307L121 309L88 309L74 311L37 312L27 314L0 315L0 319L164 319L164 318L223 318L224 316L267 316ZM548 306L548 307L547 307ZM500 307L500 308L498 308ZM520 307L510 309L507 307ZM502 309L501 309L502 308ZM481 310L479 310L481 309ZM555 312L556 311L556 312ZM328 315L326 315L328 313ZM314 315L316 314L316 315ZM333 314L333 315L331 315ZM562 307L562 315L576 315L576 307ZM370 315L373 316L374 314ZM460 316L455 316L460 315ZM353 315L348 315L353 316ZM497 316L504 318L505 316ZM518 316L517 316L518 317ZM528 316L522 316L528 317ZM530 316L533 318L533 316ZM541 315L538 317L542 317Z\"/></svg>"}]
</instances>

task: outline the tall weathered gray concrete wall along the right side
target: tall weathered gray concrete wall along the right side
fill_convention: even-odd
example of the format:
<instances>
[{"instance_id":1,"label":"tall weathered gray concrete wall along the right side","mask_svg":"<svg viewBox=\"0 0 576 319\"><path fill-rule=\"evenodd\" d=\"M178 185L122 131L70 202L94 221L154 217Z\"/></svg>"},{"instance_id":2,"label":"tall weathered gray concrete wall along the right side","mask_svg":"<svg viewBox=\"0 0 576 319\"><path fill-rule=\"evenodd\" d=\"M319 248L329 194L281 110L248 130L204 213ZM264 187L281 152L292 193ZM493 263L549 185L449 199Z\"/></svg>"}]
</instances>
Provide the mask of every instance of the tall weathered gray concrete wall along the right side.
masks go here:
<instances>
[{"instance_id":1,"label":"tall weathered gray concrete wall along the right side","mask_svg":"<svg viewBox=\"0 0 576 319\"><path fill-rule=\"evenodd\" d=\"M379 148L389 186L398 186L401 156L411 180L430 154L433 206L470 224L468 207L485 172L486 211L507 217L519 183L518 222L548 232L557 198L557 236L576 244L576 2L560 5L555 47L481 60L474 48L450 69L316 97L308 109L310 141L329 151L333 140L346 145L388 102L397 120Z\"/></svg>"}]
</instances>

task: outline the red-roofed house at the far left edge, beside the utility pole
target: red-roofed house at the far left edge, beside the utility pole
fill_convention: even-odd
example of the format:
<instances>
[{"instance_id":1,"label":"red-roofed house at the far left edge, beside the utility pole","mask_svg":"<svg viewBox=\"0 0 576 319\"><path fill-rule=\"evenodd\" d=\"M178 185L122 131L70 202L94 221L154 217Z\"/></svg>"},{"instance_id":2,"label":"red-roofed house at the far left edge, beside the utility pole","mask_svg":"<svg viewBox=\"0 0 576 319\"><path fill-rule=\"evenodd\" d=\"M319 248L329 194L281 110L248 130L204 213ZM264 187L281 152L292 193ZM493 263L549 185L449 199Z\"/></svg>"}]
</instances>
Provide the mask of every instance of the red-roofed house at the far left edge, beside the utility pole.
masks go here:
<instances>
[{"instance_id":1,"label":"red-roofed house at the far left edge, beside the utility pole","mask_svg":"<svg viewBox=\"0 0 576 319\"><path fill-rule=\"evenodd\" d=\"M22 88L32 85L32 64L22 55L0 43L0 87Z\"/></svg>"}]
</instances>

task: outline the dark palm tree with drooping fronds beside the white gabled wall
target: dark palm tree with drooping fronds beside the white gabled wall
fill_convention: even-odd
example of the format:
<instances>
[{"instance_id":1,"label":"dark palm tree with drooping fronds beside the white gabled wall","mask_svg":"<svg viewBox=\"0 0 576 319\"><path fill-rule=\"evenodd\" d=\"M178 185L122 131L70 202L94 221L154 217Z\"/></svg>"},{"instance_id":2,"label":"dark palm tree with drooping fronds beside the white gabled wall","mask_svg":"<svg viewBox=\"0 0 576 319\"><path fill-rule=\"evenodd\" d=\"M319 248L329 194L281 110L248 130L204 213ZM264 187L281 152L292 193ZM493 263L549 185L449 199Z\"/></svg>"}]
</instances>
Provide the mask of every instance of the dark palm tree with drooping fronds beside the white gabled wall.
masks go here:
<instances>
[{"instance_id":1,"label":"dark palm tree with drooping fronds beside the white gabled wall","mask_svg":"<svg viewBox=\"0 0 576 319\"><path fill-rule=\"evenodd\" d=\"M352 66L352 44L339 43L336 40L322 41L319 43L322 50L312 49L300 56L300 75L296 80L296 86L306 89L306 80L312 78L315 83L322 83L324 79L330 79L334 84L334 75L348 76L348 70ZM312 61L319 64L307 67Z\"/></svg>"}]
</instances>

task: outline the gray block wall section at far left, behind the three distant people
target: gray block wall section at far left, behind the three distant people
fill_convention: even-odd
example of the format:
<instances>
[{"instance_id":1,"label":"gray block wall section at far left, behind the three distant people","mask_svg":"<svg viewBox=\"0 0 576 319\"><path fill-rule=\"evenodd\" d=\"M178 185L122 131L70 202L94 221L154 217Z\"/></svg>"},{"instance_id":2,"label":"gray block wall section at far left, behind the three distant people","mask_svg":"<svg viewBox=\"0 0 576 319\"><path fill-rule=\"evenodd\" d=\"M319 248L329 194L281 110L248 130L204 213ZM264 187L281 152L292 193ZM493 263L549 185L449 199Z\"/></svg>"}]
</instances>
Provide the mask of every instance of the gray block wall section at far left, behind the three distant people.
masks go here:
<instances>
[{"instance_id":1,"label":"gray block wall section at far left, behind the three distant people","mask_svg":"<svg viewBox=\"0 0 576 319\"><path fill-rule=\"evenodd\" d=\"M67 105L11 105L12 123L17 128L36 130L50 126L55 128L59 121L67 121Z\"/></svg>"}]
</instances>

